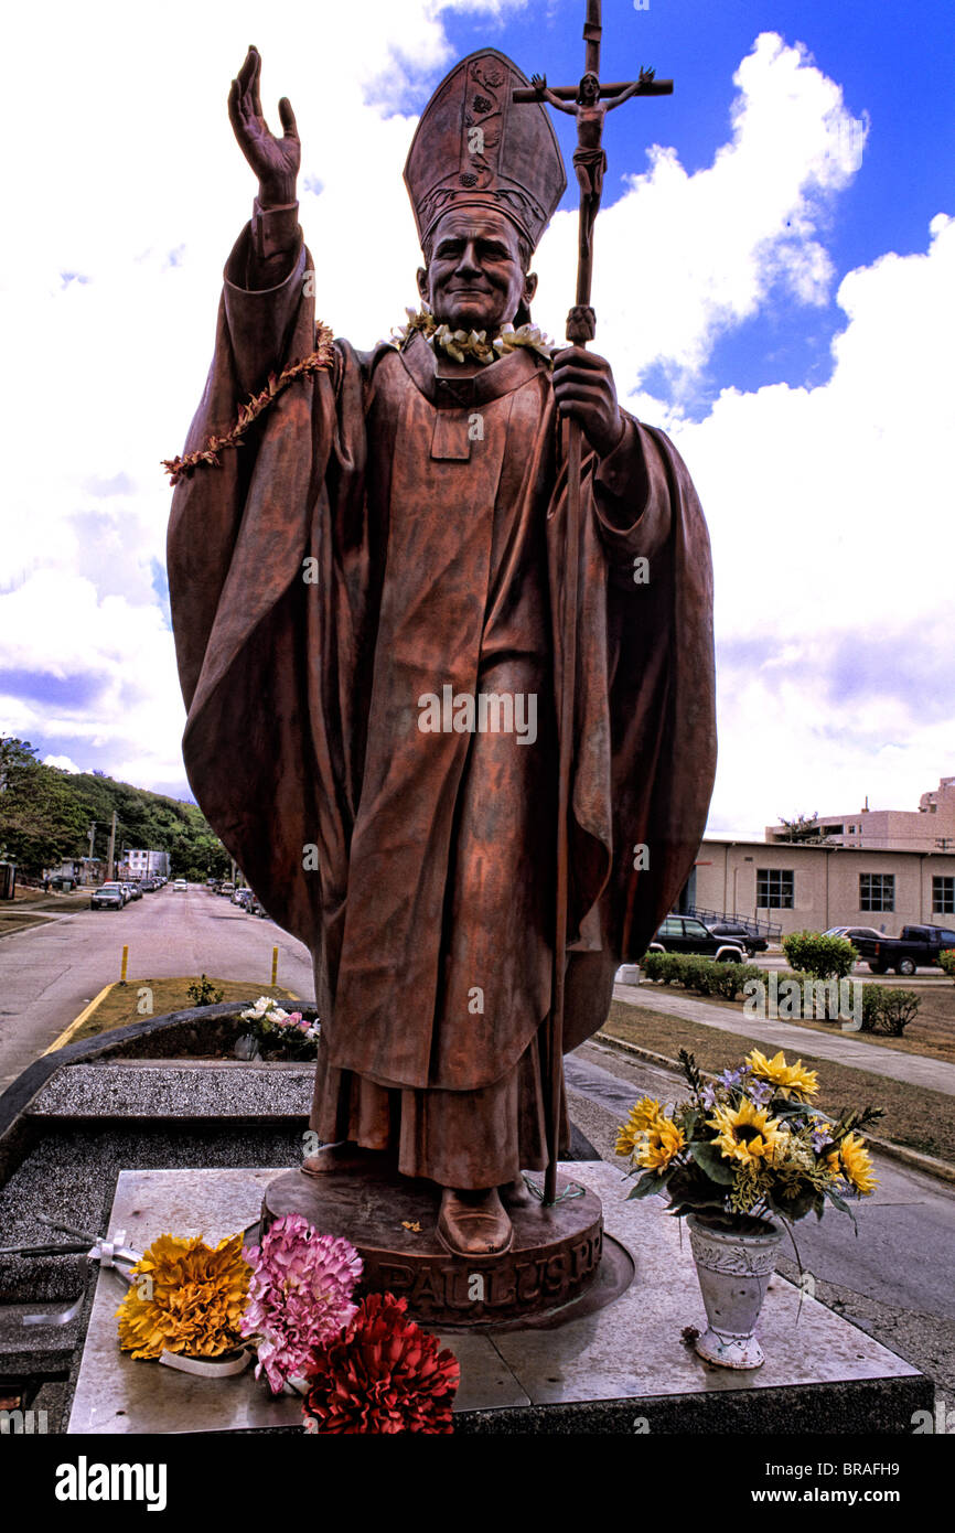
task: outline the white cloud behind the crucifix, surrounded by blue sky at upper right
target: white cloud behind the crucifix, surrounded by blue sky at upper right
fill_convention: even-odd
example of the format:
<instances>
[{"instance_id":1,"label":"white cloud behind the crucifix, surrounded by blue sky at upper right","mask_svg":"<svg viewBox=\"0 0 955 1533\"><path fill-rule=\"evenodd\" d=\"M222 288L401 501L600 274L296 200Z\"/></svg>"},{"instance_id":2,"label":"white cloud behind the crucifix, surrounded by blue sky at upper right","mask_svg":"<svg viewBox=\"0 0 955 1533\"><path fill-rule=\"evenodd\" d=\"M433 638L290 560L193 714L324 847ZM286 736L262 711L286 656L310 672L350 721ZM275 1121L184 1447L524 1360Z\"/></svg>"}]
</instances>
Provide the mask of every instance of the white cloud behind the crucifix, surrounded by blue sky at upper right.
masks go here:
<instances>
[{"instance_id":1,"label":"white cloud behind the crucifix, surrounded by blue sky at upper right","mask_svg":"<svg viewBox=\"0 0 955 1533\"><path fill-rule=\"evenodd\" d=\"M861 162L866 124L802 44L770 32L734 83L731 140L710 167L688 175L676 150L653 146L650 170L627 176L625 195L601 213L598 345L627 389L659 363L678 394L691 394L717 337L773 296L829 297L834 270L820 235L832 196ZM576 215L561 213L537 262L535 317L553 334L564 333L558 296L572 285L575 247Z\"/></svg>"}]
</instances>

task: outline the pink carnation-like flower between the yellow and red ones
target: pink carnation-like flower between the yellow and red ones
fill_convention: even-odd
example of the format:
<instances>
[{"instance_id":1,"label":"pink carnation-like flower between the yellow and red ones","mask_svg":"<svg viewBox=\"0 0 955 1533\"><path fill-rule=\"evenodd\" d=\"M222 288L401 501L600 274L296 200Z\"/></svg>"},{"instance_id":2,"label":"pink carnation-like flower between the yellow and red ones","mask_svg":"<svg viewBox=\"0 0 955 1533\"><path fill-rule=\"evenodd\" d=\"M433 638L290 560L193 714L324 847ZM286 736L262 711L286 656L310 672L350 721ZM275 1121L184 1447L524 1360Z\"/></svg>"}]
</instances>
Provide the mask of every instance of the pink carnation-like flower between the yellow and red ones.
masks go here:
<instances>
[{"instance_id":1,"label":"pink carnation-like flower between the yellow and red ones","mask_svg":"<svg viewBox=\"0 0 955 1533\"><path fill-rule=\"evenodd\" d=\"M319 1234L300 1214L276 1219L262 1245L244 1256L253 1272L241 1331L256 1337L256 1378L264 1369L277 1395L353 1320L362 1259L348 1240Z\"/></svg>"}]
</instances>

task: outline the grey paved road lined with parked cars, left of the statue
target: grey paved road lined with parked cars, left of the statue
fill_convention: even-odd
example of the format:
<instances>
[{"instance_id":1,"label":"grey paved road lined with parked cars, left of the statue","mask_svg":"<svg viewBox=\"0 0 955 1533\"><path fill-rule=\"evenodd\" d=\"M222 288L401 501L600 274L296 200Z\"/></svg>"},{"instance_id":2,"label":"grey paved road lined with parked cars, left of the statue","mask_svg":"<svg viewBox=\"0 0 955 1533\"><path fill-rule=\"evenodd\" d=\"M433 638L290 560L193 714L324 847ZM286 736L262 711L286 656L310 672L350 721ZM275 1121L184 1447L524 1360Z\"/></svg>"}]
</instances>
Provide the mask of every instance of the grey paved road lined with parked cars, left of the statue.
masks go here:
<instances>
[{"instance_id":1,"label":"grey paved road lined with parked cars, left of the statue","mask_svg":"<svg viewBox=\"0 0 955 1533\"><path fill-rule=\"evenodd\" d=\"M87 1001L120 978L129 944L129 980L208 973L268 984L279 949L279 984L314 996L311 958L274 921L193 886L144 894L124 911L78 911L0 941L0 1091L69 1027Z\"/></svg>"}]
</instances>

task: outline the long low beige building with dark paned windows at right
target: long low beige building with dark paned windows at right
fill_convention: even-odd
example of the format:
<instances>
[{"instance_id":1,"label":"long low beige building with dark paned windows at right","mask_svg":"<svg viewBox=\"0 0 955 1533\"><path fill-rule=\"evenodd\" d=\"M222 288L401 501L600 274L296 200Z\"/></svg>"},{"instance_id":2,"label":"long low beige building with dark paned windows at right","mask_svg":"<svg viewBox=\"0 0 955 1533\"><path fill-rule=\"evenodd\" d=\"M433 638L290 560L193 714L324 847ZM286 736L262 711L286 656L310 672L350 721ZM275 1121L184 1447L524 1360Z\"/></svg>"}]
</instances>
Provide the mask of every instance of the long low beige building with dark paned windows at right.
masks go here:
<instances>
[{"instance_id":1,"label":"long low beige building with dark paned windows at right","mask_svg":"<svg viewBox=\"0 0 955 1533\"><path fill-rule=\"evenodd\" d=\"M679 908L688 906L773 921L783 935L874 926L895 937L907 924L952 926L955 851L711 837L681 897Z\"/></svg>"}]
</instances>

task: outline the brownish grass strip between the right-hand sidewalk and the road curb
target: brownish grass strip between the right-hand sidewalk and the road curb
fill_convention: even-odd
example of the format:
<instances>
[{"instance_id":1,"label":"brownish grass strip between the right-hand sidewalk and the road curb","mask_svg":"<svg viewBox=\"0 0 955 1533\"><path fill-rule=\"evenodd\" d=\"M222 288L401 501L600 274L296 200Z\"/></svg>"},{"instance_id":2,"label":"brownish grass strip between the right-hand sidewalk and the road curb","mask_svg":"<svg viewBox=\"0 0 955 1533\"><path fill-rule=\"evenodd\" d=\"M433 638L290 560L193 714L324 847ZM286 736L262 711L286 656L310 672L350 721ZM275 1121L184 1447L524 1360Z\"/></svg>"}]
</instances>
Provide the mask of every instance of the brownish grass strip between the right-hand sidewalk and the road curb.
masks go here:
<instances>
[{"instance_id":1,"label":"brownish grass strip between the right-hand sidewalk and the road curb","mask_svg":"<svg viewBox=\"0 0 955 1533\"><path fill-rule=\"evenodd\" d=\"M627 1006L622 1001L612 1003L604 1032L610 1038L622 1038L624 1042L650 1049L673 1061L681 1049L688 1049L701 1070L710 1070L713 1075L737 1064L751 1049L763 1053L766 1050L765 1038L719 1033L702 1023L667 1016L664 1012ZM858 1036L852 1033L852 1038ZM865 1036L868 1041L869 1035ZM820 1091L816 1102L825 1113L835 1116L843 1107L868 1104L884 1107L886 1116L874 1130L877 1137L955 1164L955 1096L926 1091L924 1087L909 1085L906 1081L889 1081L886 1076L835 1064L832 1059L816 1059L811 1052L803 1053L802 1061L809 1069L819 1070Z\"/></svg>"}]
</instances>

